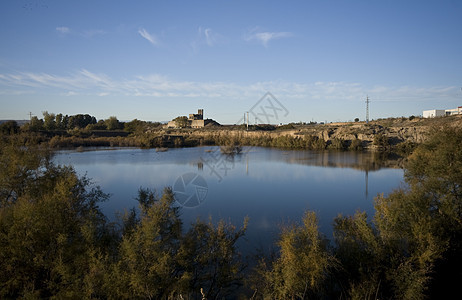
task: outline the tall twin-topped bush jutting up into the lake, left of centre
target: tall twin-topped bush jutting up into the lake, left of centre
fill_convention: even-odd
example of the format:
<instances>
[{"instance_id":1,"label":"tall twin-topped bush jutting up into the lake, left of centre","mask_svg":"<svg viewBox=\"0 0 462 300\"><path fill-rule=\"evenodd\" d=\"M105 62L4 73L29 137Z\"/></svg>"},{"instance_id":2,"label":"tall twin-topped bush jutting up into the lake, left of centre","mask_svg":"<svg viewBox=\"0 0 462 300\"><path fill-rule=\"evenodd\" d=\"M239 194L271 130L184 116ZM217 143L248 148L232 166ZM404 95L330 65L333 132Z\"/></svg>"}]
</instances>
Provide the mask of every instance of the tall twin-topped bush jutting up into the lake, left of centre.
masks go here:
<instances>
[{"instance_id":1,"label":"tall twin-topped bush jutting up into the lake, left of centre","mask_svg":"<svg viewBox=\"0 0 462 300\"><path fill-rule=\"evenodd\" d=\"M175 290L180 268L175 260L180 247L182 223L173 206L173 192L165 189L160 199L140 189L141 218L120 244L117 265L123 298L159 299Z\"/></svg>"}]
</instances>

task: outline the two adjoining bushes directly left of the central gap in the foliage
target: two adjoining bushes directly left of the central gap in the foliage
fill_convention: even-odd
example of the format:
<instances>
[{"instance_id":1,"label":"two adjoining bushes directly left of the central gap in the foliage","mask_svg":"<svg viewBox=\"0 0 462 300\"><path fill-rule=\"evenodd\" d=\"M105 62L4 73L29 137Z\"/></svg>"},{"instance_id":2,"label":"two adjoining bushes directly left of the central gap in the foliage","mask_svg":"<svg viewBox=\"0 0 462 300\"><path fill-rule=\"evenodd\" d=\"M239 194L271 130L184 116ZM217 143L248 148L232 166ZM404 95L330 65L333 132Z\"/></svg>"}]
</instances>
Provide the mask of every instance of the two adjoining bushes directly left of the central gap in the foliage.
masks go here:
<instances>
[{"instance_id":1,"label":"two adjoining bushes directly left of the central gap in the foliage","mask_svg":"<svg viewBox=\"0 0 462 300\"><path fill-rule=\"evenodd\" d=\"M112 279L119 282L115 298L198 297L214 299L240 285L243 265L236 242L246 230L220 221L217 226L200 220L183 233L179 208L171 189L162 197L140 189L140 218L125 215L120 260Z\"/></svg>"}]
</instances>

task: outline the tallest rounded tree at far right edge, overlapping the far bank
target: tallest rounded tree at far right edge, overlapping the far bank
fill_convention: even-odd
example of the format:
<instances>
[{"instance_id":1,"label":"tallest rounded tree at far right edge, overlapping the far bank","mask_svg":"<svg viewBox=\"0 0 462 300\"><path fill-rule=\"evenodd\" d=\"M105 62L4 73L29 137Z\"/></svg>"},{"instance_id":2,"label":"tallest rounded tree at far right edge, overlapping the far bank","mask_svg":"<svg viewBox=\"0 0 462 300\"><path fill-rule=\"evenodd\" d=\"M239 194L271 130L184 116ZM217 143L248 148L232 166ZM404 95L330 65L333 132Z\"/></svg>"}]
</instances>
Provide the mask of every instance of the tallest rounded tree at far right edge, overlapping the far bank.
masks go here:
<instances>
[{"instance_id":1,"label":"tallest rounded tree at far right edge, overlapping the far bank","mask_svg":"<svg viewBox=\"0 0 462 300\"><path fill-rule=\"evenodd\" d=\"M434 227L448 245L435 267L432 293L449 296L462 280L462 129L434 129L409 157L405 179L429 199Z\"/></svg>"}]
</instances>

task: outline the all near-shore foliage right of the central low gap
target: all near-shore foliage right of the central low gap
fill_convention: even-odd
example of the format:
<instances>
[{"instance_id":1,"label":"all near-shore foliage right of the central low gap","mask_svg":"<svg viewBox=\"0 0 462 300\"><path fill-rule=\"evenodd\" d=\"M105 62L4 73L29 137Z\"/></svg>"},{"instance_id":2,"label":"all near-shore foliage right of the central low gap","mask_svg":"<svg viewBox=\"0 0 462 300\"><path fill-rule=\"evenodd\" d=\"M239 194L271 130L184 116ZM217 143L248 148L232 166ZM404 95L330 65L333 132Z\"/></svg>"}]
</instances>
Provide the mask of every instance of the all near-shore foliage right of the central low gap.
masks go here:
<instances>
[{"instance_id":1,"label":"all near-shore foliage right of the central low gap","mask_svg":"<svg viewBox=\"0 0 462 300\"><path fill-rule=\"evenodd\" d=\"M252 288L263 299L450 297L462 280L462 130L435 131L409 157L408 188L334 220L334 245L316 238L314 213L283 230L280 255L260 259ZM324 289L324 290L323 290ZM328 289L328 290L326 290Z\"/></svg>"}]
</instances>

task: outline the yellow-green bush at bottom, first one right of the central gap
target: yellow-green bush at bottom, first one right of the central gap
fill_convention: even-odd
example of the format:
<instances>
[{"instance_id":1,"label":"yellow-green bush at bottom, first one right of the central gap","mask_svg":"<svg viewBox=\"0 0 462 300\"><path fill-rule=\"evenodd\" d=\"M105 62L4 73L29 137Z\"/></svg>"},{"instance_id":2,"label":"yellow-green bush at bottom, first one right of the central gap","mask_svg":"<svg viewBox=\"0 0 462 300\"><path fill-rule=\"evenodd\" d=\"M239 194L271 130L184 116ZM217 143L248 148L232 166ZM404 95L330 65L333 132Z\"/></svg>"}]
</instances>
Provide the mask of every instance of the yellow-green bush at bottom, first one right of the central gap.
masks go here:
<instances>
[{"instance_id":1,"label":"yellow-green bush at bottom, first one right of the central gap","mask_svg":"<svg viewBox=\"0 0 462 300\"><path fill-rule=\"evenodd\" d=\"M306 212L303 225L285 227L279 238L280 256L267 271L260 262L262 297L311 299L326 296L328 278L336 260L328 252L328 242L318 231L314 212Z\"/></svg>"}]
</instances>

